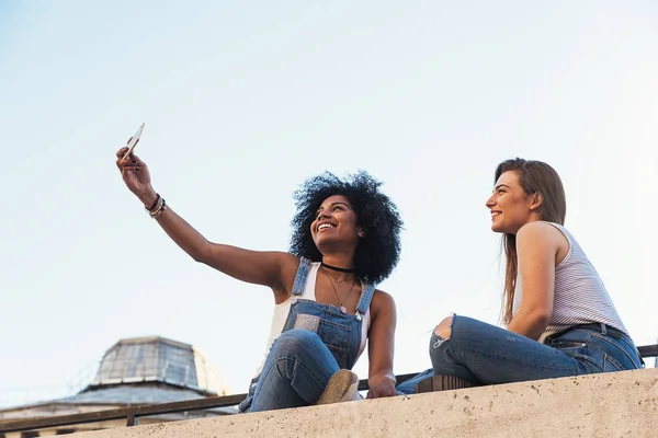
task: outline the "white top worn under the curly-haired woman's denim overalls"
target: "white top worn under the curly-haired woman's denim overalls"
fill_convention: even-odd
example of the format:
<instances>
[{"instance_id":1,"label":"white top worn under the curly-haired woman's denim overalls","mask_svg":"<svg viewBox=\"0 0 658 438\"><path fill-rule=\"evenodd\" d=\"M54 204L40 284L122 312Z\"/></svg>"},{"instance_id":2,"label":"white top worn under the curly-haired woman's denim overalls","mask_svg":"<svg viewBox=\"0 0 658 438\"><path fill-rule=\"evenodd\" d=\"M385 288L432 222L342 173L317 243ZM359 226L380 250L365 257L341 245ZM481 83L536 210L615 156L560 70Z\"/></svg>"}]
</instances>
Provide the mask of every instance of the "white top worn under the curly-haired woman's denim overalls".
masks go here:
<instances>
[{"instance_id":1,"label":"white top worn under the curly-haired woman's denim overalls","mask_svg":"<svg viewBox=\"0 0 658 438\"><path fill-rule=\"evenodd\" d=\"M315 298L315 288L316 280L318 278L318 269L320 267L320 262L315 262L310 265L308 269L308 276L306 277L306 285L304 286L304 292L302 292L300 299L316 301ZM365 290L365 285L361 284L361 290ZM272 314L272 324L270 325L270 336L268 337L268 344L265 347L265 354L263 355L263 359L261 360L260 366L256 371L256 376L260 376L263 366L265 365L265 359L268 358L268 354L270 354L270 348L272 348L272 344L279 337L281 332L283 331L283 326L285 325L285 321L287 320L287 315L291 311L291 301L293 297L292 295L287 300L282 302L281 304L274 306L274 313ZM372 301L371 301L372 302ZM361 354L365 349L365 342L367 339L367 332L370 331L371 315L370 315L370 306L365 315L363 315L363 322L361 323L361 345L359 346L359 353L356 354L356 359L354 362L359 360Z\"/></svg>"}]
</instances>

